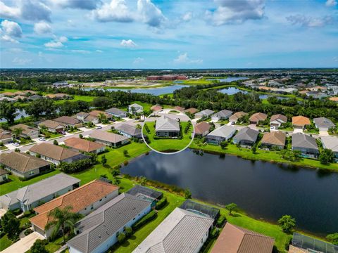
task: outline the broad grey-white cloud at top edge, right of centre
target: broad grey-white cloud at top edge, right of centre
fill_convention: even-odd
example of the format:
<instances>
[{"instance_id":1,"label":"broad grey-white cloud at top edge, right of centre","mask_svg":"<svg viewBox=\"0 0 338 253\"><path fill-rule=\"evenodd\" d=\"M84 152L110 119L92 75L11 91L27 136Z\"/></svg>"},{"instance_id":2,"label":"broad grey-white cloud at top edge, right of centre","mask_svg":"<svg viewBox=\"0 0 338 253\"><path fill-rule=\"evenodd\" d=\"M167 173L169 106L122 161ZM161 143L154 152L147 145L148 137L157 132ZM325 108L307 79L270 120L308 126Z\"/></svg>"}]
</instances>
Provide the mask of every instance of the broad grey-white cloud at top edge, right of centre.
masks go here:
<instances>
[{"instance_id":1,"label":"broad grey-white cloud at top edge, right of centre","mask_svg":"<svg viewBox=\"0 0 338 253\"><path fill-rule=\"evenodd\" d=\"M214 0L218 7L206 11L206 20L213 25L242 23L263 18L265 0Z\"/></svg>"}]
</instances>

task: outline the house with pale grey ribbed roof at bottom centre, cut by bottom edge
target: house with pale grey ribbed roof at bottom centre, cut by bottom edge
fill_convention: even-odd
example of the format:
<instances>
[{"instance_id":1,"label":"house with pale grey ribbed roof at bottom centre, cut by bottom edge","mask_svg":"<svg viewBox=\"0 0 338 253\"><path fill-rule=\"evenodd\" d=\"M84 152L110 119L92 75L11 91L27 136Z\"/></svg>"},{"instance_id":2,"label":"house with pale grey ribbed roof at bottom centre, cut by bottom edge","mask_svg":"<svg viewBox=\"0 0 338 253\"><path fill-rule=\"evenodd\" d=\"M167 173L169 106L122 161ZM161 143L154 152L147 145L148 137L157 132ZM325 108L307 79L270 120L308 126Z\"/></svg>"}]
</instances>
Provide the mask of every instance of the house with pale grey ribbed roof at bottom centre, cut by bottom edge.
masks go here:
<instances>
[{"instance_id":1,"label":"house with pale grey ribbed roof at bottom centre, cut by bottom edge","mask_svg":"<svg viewBox=\"0 0 338 253\"><path fill-rule=\"evenodd\" d=\"M199 252L212 227L210 217L176 207L133 253Z\"/></svg>"}]
</instances>

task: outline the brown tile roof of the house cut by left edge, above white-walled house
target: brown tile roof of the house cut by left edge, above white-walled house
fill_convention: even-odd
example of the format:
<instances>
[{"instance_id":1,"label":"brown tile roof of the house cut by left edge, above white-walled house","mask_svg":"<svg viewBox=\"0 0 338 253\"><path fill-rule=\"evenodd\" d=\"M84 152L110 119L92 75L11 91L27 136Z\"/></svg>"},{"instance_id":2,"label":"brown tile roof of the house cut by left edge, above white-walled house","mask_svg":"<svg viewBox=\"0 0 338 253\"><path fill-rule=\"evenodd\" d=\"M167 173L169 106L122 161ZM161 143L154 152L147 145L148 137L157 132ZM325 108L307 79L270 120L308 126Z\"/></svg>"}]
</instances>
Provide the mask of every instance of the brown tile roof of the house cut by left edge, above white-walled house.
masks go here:
<instances>
[{"instance_id":1,"label":"brown tile roof of the house cut by left edge, above white-walled house","mask_svg":"<svg viewBox=\"0 0 338 253\"><path fill-rule=\"evenodd\" d=\"M28 155L25 153L19 153L12 151L11 153L1 153L0 162L6 167L15 169L20 172L32 171L49 165L49 162L39 159L35 156Z\"/></svg>"}]
</instances>

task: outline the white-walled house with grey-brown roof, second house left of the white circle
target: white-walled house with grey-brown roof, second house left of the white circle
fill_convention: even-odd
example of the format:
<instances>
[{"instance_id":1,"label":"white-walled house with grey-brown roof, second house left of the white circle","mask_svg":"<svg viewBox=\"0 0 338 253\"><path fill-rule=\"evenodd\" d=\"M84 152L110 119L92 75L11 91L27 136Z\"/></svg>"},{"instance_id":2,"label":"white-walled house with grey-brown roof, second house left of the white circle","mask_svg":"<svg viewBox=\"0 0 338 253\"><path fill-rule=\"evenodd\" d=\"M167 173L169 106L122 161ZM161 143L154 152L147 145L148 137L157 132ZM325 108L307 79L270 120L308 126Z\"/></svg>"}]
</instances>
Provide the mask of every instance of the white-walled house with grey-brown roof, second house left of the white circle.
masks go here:
<instances>
[{"instance_id":1,"label":"white-walled house with grey-brown roof, second house left of the white circle","mask_svg":"<svg viewBox=\"0 0 338 253\"><path fill-rule=\"evenodd\" d=\"M118 148L121 145L129 143L129 138L120 134L108 133L106 131L94 130L89 134L90 138L93 138L96 142L104 145L110 145L111 147Z\"/></svg>"}]
</instances>

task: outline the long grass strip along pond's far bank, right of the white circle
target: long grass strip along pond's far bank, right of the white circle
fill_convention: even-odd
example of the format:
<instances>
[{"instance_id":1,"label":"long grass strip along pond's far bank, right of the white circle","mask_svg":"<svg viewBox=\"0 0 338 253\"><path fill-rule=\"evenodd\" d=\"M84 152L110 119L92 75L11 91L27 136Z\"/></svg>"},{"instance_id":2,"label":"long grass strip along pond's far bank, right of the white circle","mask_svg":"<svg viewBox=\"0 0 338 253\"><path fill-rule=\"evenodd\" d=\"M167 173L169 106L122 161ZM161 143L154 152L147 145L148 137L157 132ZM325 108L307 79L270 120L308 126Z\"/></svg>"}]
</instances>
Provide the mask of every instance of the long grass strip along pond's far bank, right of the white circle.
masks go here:
<instances>
[{"instance_id":1,"label":"long grass strip along pond's far bank, right of the white circle","mask_svg":"<svg viewBox=\"0 0 338 253\"><path fill-rule=\"evenodd\" d=\"M225 153L225 154L231 154L231 155L237 155L239 157L243 157L244 159L250 159L250 160L263 160L268 162L282 162L282 163L288 163L293 164L296 166L303 166L303 167L314 167L318 169L330 169L332 171L338 171L338 164L329 164L324 165L320 164L318 160L312 160L303 158L298 162L290 162L288 160L284 160L280 156L279 151L270 151L270 150L260 150L257 149L256 154L253 154L250 149L237 148L234 144L227 145L227 148L222 149L218 145L209 145L209 144L201 144L198 143L196 140L193 141L192 145L189 146L189 148L196 148L200 150L215 152L215 153Z\"/></svg>"}]
</instances>

